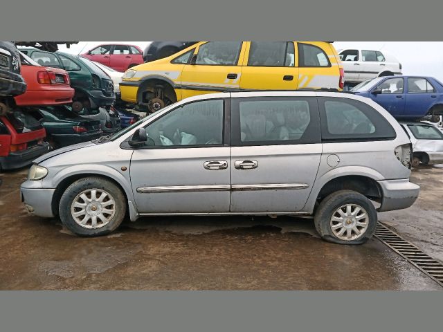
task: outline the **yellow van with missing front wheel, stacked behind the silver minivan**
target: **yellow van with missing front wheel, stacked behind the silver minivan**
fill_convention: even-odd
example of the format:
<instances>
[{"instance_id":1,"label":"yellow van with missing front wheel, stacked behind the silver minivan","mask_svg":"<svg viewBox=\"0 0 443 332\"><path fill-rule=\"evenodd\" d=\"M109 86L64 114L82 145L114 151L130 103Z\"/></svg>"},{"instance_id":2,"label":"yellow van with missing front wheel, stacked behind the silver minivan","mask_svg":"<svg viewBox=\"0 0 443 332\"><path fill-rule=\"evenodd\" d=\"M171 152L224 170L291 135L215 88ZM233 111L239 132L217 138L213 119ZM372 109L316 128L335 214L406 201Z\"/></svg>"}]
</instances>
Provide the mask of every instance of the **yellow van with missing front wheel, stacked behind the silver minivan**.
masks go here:
<instances>
[{"instance_id":1,"label":"yellow van with missing front wheel, stacked behind the silver minivan","mask_svg":"<svg viewBox=\"0 0 443 332\"><path fill-rule=\"evenodd\" d=\"M343 89L343 67L329 42L199 42L128 69L122 100L158 111L220 91Z\"/></svg>"}]
</instances>

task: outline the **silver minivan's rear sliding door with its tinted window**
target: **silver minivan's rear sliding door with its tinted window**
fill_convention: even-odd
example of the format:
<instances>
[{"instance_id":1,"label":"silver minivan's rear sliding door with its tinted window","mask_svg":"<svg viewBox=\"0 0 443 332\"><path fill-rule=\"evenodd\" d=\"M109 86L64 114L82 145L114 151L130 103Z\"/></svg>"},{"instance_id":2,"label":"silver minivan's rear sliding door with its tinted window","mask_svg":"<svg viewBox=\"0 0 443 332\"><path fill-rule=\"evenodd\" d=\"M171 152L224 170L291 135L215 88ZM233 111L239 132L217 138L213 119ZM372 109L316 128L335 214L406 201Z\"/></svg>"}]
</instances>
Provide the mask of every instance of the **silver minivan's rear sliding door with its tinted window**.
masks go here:
<instances>
[{"instance_id":1,"label":"silver minivan's rear sliding door with its tinted window","mask_svg":"<svg viewBox=\"0 0 443 332\"><path fill-rule=\"evenodd\" d=\"M322 145L316 98L233 98L230 212L297 212Z\"/></svg>"}]
</instances>

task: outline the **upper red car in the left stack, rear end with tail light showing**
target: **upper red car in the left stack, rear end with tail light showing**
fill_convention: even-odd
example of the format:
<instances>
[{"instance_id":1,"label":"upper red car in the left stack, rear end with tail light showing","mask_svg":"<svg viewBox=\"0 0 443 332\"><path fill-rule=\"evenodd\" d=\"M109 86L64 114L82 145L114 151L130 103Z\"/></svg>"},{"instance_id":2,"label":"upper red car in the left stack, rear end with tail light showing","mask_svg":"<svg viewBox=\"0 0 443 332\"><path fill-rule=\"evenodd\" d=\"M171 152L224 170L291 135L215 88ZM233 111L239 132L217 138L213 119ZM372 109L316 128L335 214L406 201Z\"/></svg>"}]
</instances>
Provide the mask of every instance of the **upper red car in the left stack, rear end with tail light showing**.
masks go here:
<instances>
[{"instance_id":1,"label":"upper red car in the left stack, rear end with tail light showing","mask_svg":"<svg viewBox=\"0 0 443 332\"><path fill-rule=\"evenodd\" d=\"M60 68L44 67L30 57L20 54L21 75L28 89L15 97L17 106L55 105L72 102L74 89L71 88L68 72Z\"/></svg>"}]
</instances>

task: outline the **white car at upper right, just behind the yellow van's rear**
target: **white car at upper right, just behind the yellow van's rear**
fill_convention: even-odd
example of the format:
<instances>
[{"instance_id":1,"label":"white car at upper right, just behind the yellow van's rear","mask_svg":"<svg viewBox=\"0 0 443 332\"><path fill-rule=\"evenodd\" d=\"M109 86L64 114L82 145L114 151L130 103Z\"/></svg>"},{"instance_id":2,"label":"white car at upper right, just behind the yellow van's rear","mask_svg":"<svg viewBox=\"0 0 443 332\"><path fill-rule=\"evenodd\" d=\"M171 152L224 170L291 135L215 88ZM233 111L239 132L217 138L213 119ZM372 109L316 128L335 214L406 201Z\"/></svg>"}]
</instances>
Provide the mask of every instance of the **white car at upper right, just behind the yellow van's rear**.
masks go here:
<instances>
[{"instance_id":1,"label":"white car at upper right, just behind the yellow van's rear","mask_svg":"<svg viewBox=\"0 0 443 332\"><path fill-rule=\"evenodd\" d=\"M401 64L389 53L379 50L347 48L339 50L345 83L355 84L379 76L401 75Z\"/></svg>"}]
</instances>

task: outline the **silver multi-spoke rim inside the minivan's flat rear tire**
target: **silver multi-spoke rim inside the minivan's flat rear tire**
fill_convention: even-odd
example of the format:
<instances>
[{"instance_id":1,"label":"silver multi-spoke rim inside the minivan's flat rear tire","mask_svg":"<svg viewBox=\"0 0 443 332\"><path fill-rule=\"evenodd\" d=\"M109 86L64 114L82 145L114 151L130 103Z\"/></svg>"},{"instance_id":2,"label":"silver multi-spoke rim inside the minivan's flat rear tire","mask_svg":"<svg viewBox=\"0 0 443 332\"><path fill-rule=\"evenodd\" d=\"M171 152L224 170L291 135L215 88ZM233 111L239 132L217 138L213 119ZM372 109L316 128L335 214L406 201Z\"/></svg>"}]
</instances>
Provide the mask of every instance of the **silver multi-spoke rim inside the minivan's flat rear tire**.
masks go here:
<instances>
[{"instance_id":1,"label":"silver multi-spoke rim inside the minivan's flat rear tire","mask_svg":"<svg viewBox=\"0 0 443 332\"><path fill-rule=\"evenodd\" d=\"M334 235L344 241L361 237L368 229L368 212L357 204L346 204L335 210L329 226Z\"/></svg>"}]
</instances>

